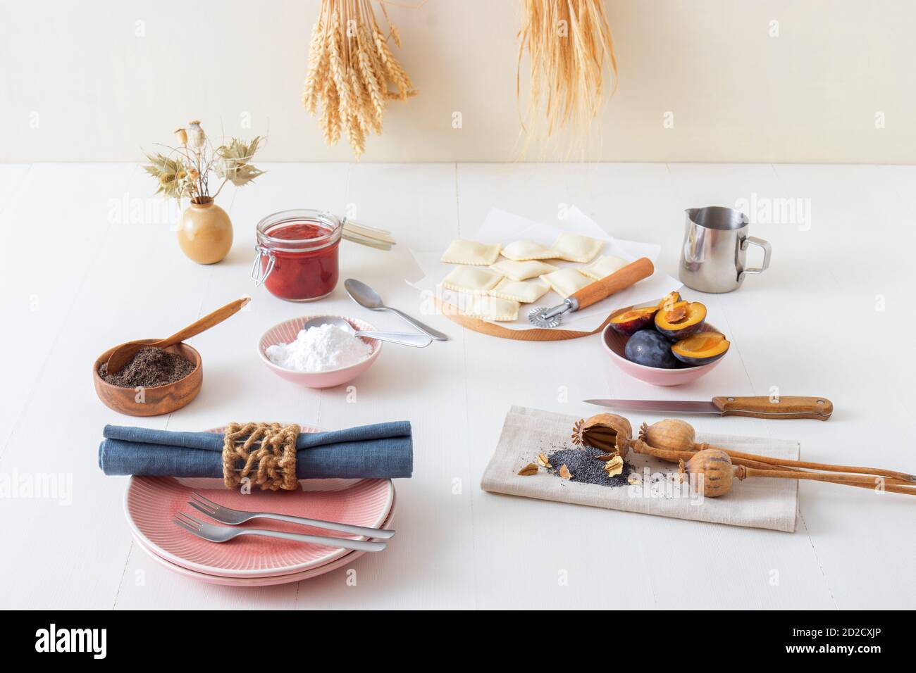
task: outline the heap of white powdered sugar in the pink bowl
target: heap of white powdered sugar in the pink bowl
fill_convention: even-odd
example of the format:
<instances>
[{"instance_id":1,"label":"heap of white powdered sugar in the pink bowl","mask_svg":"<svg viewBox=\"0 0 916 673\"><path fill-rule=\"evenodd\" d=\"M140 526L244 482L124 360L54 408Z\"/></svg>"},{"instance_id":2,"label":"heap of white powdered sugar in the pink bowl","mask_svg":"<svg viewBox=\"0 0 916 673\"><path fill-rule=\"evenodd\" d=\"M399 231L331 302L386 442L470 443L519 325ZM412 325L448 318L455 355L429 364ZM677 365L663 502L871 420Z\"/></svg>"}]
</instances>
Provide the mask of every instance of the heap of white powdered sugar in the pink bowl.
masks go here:
<instances>
[{"instance_id":1,"label":"heap of white powdered sugar in the pink bowl","mask_svg":"<svg viewBox=\"0 0 916 673\"><path fill-rule=\"evenodd\" d=\"M372 346L349 331L332 324L300 330L296 341L267 346L273 364L297 372L328 372L363 362Z\"/></svg>"}]
</instances>

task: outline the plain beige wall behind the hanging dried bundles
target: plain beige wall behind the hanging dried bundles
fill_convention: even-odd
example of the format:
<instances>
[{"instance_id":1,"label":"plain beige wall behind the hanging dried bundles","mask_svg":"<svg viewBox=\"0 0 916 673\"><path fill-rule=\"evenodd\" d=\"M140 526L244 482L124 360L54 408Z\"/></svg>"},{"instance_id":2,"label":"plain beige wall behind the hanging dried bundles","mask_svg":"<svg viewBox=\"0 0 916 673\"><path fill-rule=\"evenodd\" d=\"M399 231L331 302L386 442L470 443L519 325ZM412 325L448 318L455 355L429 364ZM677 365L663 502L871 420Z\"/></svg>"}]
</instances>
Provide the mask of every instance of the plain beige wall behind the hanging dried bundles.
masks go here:
<instances>
[{"instance_id":1,"label":"plain beige wall behind the hanging dried bundles","mask_svg":"<svg viewBox=\"0 0 916 673\"><path fill-rule=\"evenodd\" d=\"M325 147L300 108L319 4L3 0L0 160L136 161L191 118L211 134L221 125L226 135L267 134L263 160L352 160L345 141ZM916 3L605 5L619 88L584 158L916 163ZM518 159L521 7L390 2L420 96L389 106L363 160ZM526 159L563 157L561 143Z\"/></svg>"}]
</instances>

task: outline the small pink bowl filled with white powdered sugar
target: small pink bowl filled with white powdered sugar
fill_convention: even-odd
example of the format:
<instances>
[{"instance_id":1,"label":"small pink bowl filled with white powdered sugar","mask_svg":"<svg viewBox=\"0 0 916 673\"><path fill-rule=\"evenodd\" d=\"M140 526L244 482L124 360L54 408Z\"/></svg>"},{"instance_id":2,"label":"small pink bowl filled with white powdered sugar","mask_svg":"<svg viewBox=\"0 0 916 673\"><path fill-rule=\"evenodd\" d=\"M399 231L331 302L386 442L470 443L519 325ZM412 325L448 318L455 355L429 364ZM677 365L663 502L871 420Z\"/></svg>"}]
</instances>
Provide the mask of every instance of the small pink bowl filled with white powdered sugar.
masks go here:
<instances>
[{"instance_id":1,"label":"small pink bowl filled with white powdered sugar","mask_svg":"<svg viewBox=\"0 0 916 673\"><path fill-rule=\"evenodd\" d=\"M346 316L303 316L274 325L257 342L257 353L274 374L309 388L332 388L353 381L376 361L377 339L357 337L332 324L302 326L315 318L343 318L358 331L375 331L365 320Z\"/></svg>"}]
</instances>

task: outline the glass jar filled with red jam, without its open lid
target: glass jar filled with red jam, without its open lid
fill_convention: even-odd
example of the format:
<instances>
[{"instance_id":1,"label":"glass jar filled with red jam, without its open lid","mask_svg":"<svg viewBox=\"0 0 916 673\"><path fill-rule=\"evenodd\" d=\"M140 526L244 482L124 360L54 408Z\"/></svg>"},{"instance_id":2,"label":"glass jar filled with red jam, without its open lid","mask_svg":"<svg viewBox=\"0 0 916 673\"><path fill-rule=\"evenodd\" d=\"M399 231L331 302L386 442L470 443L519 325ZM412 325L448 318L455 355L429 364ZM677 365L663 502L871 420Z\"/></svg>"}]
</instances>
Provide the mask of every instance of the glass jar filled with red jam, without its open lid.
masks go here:
<instances>
[{"instance_id":1,"label":"glass jar filled with red jam, without its open lid","mask_svg":"<svg viewBox=\"0 0 916 673\"><path fill-rule=\"evenodd\" d=\"M251 267L256 285L274 297L312 301L337 285L337 250L344 223L330 212L275 212L257 223L257 256Z\"/></svg>"}]
</instances>

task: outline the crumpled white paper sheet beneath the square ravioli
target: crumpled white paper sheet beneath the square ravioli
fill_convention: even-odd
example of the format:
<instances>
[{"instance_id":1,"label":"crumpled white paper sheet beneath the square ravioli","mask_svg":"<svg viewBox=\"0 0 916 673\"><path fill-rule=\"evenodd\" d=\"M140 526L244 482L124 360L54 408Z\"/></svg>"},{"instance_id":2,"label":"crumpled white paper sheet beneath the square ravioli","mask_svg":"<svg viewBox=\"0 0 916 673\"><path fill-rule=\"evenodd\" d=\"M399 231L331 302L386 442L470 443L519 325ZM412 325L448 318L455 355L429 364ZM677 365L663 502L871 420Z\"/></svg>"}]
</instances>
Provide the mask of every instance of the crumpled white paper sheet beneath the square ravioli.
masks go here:
<instances>
[{"instance_id":1,"label":"crumpled white paper sheet beneath the square ravioli","mask_svg":"<svg viewBox=\"0 0 916 673\"><path fill-rule=\"evenodd\" d=\"M562 221L562 225L533 222L511 212L491 208L490 212L487 212L480 230L474 235L468 236L468 238L481 243L501 243L504 245L519 239L528 239L543 245L551 245L557 234L561 232L579 233L583 236L601 239L605 241L605 246L599 255L614 255L626 259L628 262L633 262L639 257L649 257L652 262L655 262L661 252L661 246L657 244L621 241L609 236L594 220L574 206L567 212L567 218ZM443 264L439 261L442 256L442 250L411 250L410 252L417 260L417 264L424 274L424 277L418 282L410 283L410 285L421 292L435 293L443 302L453 307L458 307L463 298L454 292L443 290L439 287L439 282L454 267L454 265ZM561 268L564 266L584 266L556 259L546 259L544 261ZM618 292L604 301L599 301L597 304L578 310L575 313L565 314L562 318L562 326L571 330L593 331L605 321L607 315L612 311L661 299L672 290L678 288L681 288L681 281L656 270L652 276L640 280L636 285ZM562 303L562 300L563 298L560 295L551 290L533 304L522 304L521 309L518 311L518 320L495 322L494 324L510 330L529 330L532 327L528 320L530 309L538 306L556 306Z\"/></svg>"}]
</instances>

